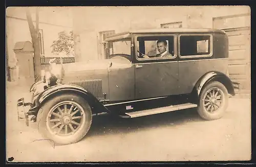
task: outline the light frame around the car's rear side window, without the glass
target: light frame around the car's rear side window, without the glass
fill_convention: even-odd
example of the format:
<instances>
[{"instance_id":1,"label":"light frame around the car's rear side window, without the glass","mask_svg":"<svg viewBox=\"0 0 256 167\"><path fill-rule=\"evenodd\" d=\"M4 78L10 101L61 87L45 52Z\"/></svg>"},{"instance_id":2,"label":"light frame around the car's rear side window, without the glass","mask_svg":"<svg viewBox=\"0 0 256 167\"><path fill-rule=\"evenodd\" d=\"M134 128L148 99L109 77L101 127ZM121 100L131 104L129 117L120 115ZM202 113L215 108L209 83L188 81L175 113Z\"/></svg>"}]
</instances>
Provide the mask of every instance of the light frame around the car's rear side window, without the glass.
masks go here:
<instances>
[{"instance_id":1,"label":"light frame around the car's rear side window, without the glass","mask_svg":"<svg viewBox=\"0 0 256 167\"><path fill-rule=\"evenodd\" d=\"M180 55L180 37L181 36L209 36L210 37L210 41L209 41L209 49L210 49L210 52L209 54L207 55L188 55L188 56L181 56ZM181 59L185 59L185 58L203 58L203 57L211 57L213 55L213 49L214 49L214 41L213 41L214 37L212 36L212 34L179 34L178 36L178 56L179 58Z\"/></svg>"}]
</instances>

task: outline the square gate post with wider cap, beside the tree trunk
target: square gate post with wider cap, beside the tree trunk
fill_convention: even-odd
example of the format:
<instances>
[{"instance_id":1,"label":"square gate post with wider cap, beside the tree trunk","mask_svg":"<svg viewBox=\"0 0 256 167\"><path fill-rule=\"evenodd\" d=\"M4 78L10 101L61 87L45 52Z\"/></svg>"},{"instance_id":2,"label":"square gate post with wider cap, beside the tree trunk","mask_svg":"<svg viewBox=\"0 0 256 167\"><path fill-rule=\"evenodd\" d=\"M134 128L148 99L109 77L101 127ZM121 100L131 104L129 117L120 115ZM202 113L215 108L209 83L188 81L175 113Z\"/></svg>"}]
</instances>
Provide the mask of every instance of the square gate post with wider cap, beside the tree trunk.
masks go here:
<instances>
[{"instance_id":1,"label":"square gate post with wider cap, beside the tree trunk","mask_svg":"<svg viewBox=\"0 0 256 167\"><path fill-rule=\"evenodd\" d=\"M30 41L16 42L13 51L17 59L17 81L30 85L34 82L33 45Z\"/></svg>"}]
</instances>

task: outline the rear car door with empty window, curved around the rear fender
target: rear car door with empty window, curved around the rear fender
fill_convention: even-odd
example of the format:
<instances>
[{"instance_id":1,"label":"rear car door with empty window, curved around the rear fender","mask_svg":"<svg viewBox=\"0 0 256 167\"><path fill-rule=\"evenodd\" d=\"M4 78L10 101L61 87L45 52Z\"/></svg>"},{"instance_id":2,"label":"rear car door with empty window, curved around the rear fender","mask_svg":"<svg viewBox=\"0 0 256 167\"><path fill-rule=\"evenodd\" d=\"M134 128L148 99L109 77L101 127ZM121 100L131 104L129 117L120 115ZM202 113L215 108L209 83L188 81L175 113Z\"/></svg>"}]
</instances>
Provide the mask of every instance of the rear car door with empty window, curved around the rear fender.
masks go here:
<instances>
[{"instance_id":1,"label":"rear car door with empty window, curved around the rear fender","mask_svg":"<svg viewBox=\"0 0 256 167\"><path fill-rule=\"evenodd\" d=\"M178 36L180 93L190 93L205 73L223 66L213 55L211 34L180 34Z\"/></svg>"}]
</instances>

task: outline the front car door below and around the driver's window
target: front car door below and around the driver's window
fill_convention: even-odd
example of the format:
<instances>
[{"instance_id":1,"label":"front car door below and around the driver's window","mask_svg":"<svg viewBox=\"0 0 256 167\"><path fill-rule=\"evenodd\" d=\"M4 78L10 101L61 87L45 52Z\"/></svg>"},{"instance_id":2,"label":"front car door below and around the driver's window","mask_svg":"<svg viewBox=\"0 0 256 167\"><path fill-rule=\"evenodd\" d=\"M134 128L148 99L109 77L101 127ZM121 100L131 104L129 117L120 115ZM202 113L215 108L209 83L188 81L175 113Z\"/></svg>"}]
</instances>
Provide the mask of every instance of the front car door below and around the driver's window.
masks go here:
<instances>
[{"instance_id":1,"label":"front car door below and around the driver's window","mask_svg":"<svg viewBox=\"0 0 256 167\"><path fill-rule=\"evenodd\" d=\"M167 42L167 51L172 56L140 57L140 53L148 54L149 56L158 54L159 51L155 47L160 39ZM157 98L179 93L179 65L176 48L177 37L174 34L135 35L136 53L134 68L136 99Z\"/></svg>"}]
</instances>

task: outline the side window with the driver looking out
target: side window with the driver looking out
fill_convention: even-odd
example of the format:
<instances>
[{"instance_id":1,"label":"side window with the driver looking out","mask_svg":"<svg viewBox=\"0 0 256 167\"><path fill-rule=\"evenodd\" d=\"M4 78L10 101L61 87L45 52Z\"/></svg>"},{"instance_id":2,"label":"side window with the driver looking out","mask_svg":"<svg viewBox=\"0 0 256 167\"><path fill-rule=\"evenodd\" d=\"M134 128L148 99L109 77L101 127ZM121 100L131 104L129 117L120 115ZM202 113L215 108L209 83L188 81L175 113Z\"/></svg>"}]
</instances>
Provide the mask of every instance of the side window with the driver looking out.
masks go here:
<instances>
[{"instance_id":1,"label":"side window with the driver looking out","mask_svg":"<svg viewBox=\"0 0 256 167\"><path fill-rule=\"evenodd\" d=\"M175 36L137 37L137 59L175 58Z\"/></svg>"}]
</instances>

